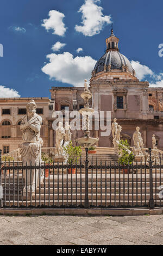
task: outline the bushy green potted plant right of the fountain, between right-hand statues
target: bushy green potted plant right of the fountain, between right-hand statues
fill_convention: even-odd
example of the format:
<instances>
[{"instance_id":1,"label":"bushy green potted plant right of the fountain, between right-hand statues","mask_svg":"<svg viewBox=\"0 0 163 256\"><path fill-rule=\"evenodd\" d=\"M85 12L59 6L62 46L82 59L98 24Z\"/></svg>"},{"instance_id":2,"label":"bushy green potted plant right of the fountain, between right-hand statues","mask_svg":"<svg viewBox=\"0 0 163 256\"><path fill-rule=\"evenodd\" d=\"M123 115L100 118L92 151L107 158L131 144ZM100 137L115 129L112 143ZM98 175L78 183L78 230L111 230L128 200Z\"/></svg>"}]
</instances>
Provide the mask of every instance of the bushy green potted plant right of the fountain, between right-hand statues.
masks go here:
<instances>
[{"instance_id":1,"label":"bushy green potted plant right of the fountain, between right-hand statues","mask_svg":"<svg viewBox=\"0 0 163 256\"><path fill-rule=\"evenodd\" d=\"M118 148L120 150L119 155L120 158L118 159L118 163L124 165L124 166L128 166L129 164L131 164L134 160L134 154L133 152L130 150L130 145L128 144L127 139L125 141L123 141L123 139L120 140L120 143L118 145ZM128 169L124 169L124 173L128 173Z\"/></svg>"}]
</instances>

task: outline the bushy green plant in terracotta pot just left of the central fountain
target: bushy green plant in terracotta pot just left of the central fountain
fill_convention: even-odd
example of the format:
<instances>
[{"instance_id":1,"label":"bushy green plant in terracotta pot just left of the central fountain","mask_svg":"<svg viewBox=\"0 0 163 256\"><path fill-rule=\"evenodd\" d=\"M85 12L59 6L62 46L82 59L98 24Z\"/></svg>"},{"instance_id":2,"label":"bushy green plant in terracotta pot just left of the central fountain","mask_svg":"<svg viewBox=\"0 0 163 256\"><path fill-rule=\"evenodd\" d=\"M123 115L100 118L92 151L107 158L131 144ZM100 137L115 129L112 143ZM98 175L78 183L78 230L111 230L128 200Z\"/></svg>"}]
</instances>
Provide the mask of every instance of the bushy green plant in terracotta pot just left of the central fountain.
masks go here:
<instances>
[{"instance_id":1,"label":"bushy green plant in terracotta pot just left of the central fountain","mask_svg":"<svg viewBox=\"0 0 163 256\"><path fill-rule=\"evenodd\" d=\"M80 146L73 147L72 141L64 147L65 153L68 155L67 163L72 166L78 162L79 157L82 155L82 148ZM68 168L68 174L76 174L76 168Z\"/></svg>"}]
</instances>

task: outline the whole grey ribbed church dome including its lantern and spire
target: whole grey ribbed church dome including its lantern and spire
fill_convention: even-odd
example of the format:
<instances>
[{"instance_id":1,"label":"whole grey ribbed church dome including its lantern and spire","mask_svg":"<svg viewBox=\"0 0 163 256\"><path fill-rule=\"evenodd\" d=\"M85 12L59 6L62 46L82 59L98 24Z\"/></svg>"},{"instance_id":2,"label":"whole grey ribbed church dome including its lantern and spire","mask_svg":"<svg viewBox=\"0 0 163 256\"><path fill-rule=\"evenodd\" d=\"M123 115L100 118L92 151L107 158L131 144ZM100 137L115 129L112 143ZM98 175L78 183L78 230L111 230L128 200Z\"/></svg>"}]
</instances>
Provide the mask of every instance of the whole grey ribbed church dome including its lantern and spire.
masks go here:
<instances>
[{"instance_id":1,"label":"whole grey ribbed church dome including its lantern and spire","mask_svg":"<svg viewBox=\"0 0 163 256\"><path fill-rule=\"evenodd\" d=\"M126 56L119 52L119 39L114 35L111 29L111 35L106 38L106 53L98 60L92 71L92 77L102 75L103 73L120 74L121 79L137 79L135 70Z\"/></svg>"}]
</instances>

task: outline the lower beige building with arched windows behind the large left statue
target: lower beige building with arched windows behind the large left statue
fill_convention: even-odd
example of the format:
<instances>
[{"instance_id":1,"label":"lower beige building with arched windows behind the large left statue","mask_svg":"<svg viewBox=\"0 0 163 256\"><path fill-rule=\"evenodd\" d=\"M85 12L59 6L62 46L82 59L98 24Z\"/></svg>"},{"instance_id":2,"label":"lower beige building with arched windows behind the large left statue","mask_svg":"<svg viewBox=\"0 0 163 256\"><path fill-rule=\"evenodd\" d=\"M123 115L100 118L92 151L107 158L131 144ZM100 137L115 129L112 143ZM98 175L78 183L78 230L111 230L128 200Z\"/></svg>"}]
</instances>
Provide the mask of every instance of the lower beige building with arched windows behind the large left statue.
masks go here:
<instances>
[{"instance_id":1,"label":"lower beige building with arched windows behind the large left statue","mask_svg":"<svg viewBox=\"0 0 163 256\"><path fill-rule=\"evenodd\" d=\"M37 113L42 117L40 137L43 139L43 147L48 147L48 97L30 98L0 98L0 149L2 154L16 150L22 143L20 124L26 114L26 105L29 100L35 100Z\"/></svg>"}]
</instances>

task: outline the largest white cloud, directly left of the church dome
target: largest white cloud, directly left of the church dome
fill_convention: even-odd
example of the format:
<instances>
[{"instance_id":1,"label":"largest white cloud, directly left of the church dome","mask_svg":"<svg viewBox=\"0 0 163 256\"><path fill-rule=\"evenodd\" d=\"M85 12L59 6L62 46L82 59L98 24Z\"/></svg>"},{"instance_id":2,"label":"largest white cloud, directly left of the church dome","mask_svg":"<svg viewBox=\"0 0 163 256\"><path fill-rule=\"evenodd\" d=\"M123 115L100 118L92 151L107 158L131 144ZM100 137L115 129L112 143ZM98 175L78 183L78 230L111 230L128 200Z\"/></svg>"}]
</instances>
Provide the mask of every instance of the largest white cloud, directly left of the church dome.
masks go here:
<instances>
[{"instance_id":1,"label":"largest white cloud, directly left of the church dome","mask_svg":"<svg viewBox=\"0 0 163 256\"><path fill-rule=\"evenodd\" d=\"M69 83L76 87L84 85L84 79L89 81L91 71L96 60L90 56L76 58L70 52L62 54L48 54L49 63L43 66L42 71L62 83Z\"/></svg>"}]
</instances>

